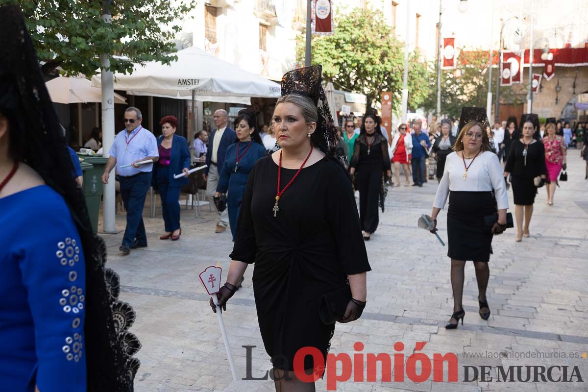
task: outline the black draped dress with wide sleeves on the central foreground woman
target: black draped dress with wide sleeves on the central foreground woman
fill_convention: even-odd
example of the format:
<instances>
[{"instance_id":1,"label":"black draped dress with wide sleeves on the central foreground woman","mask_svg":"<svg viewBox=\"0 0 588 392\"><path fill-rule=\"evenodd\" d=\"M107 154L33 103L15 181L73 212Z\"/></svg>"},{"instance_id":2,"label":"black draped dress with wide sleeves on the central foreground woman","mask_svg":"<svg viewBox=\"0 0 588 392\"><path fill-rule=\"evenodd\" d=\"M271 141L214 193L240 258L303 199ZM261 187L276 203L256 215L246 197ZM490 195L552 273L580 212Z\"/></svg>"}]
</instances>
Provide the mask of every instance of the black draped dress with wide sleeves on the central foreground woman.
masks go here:
<instances>
[{"instance_id":1,"label":"black draped dress with wide sleeves on the central foreground woman","mask_svg":"<svg viewBox=\"0 0 588 392\"><path fill-rule=\"evenodd\" d=\"M296 170L282 167L280 189ZM231 259L255 263L253 294L263 344L273 366L293 370L296 351L316 347L326 358L335 326L319 319L323 294L370 270L355 198L343 167L323 158L305 167L280 197L278 165L259 159L249 175ZM307 356L305 368L312 368Z\"/></svg>"}]
</instances>

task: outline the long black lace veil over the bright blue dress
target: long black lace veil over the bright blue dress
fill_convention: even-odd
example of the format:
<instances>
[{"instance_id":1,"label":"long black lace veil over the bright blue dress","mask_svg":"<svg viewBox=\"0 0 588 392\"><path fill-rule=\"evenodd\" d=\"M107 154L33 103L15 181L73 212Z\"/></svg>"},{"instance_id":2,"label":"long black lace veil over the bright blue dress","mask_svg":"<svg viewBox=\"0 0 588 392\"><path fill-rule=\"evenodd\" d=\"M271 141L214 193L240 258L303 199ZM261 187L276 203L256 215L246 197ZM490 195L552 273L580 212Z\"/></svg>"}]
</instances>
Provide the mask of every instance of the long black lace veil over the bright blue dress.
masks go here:
<instances>
[{"instance_id":1,"label":"long black lace veil over the bright blue dress","mask_svg":"<svg viewBox=\"0 0 588 392\"><path fill-rule=\"evenodd\" d=\"M18 6L0 7L0 111L10 124L12 158L31 166L61 195L82 240L86 263L85 346L88 391L133 390L141 347L128 332L135 314L118 300L118 276L104 268L106 246L94 236L81 189Z\"/></svg>"}]
</instances>

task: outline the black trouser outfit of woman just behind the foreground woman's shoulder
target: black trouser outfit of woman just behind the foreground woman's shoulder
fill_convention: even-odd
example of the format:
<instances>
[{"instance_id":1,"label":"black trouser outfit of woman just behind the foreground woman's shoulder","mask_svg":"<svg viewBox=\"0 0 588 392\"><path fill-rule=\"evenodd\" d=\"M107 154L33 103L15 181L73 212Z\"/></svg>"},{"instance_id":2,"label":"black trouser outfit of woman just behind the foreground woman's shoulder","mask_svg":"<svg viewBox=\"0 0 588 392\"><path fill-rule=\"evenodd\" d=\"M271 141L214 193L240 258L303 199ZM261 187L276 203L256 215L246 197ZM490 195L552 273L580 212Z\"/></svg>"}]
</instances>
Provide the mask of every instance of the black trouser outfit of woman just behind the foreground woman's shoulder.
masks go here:
<instances>
[{"instance_id":1,"label":"black trouser outfit of woman just behind the foreground woman's shoulder","mask_svg":"<svg viewBox=\"0 0 588 392\"><path fill-rule=\"evenodd\" d=\"M351 167L358 173L359 217L362 230L373 233L380 217L378 206L384 211L386 186L383 173L390 170L390 157L384 136L376 133L373 143L368 146L365 135L355 139Z\"/></svg>"}]
</instances>

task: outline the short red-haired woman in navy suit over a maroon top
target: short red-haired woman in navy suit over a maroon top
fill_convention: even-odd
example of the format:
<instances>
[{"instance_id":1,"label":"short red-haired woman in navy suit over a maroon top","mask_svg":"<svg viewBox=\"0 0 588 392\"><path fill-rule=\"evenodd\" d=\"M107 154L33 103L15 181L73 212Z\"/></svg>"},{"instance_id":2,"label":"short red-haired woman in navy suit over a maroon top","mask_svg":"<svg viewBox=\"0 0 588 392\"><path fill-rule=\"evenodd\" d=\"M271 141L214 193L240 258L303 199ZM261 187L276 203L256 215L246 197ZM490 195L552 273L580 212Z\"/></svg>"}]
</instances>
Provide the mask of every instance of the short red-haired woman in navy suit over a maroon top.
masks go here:
<instances>
[{"instance_id":1,"label":"short red-haired woman in navy suit over a maroon top","mask_svg":"<svg viewBox=\"0 0 588 392\"><path fill-rule=\"evenodd\" d=\"M159 160L153 165L153 187L156 187L161 196L163 210L163 222L165 234L160 240L179 240L182 234L180 228L180 190L182 185L188 183L188 170L190 167L190 151L188 142L182 136L175 134L178 119L174 116L165 116L159 122L163 135L157 138ZM184 173L178 179L173 175Z\"/></svg>"}]
</instances>

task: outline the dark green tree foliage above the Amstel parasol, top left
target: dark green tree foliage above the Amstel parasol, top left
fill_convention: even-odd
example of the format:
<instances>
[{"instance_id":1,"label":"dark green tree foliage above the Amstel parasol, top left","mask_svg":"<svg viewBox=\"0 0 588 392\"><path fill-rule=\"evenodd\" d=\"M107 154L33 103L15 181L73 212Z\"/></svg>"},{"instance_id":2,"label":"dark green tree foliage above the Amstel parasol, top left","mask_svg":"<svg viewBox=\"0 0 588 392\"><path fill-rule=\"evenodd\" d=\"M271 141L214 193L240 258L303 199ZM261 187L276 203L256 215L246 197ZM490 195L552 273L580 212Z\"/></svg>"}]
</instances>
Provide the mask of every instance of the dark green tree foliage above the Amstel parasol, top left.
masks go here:
<instances>
[{"instance_id":1,"label":"dark green tree foliage above the Amstel parasol, top left","mask_svg":"<svg viewBox=\"0 0 588 392\"><path fill-rule=\"evenodd\" d=\"M177 58L173 36L178 21L196 2L173 0L0 0L19 4L44 72L57 66L68 75L94 75L100 56L111 58L113 72L130 73L133 63ZM103 3L110 3L112 24L102 20Z\"/></svg>"}]
</instances>

